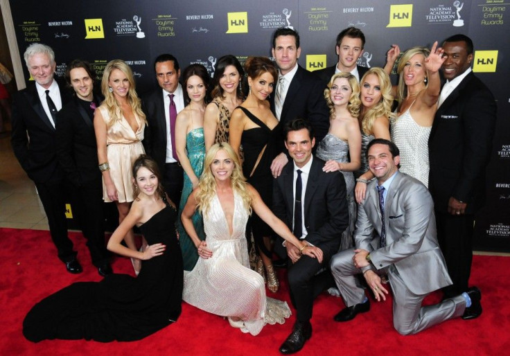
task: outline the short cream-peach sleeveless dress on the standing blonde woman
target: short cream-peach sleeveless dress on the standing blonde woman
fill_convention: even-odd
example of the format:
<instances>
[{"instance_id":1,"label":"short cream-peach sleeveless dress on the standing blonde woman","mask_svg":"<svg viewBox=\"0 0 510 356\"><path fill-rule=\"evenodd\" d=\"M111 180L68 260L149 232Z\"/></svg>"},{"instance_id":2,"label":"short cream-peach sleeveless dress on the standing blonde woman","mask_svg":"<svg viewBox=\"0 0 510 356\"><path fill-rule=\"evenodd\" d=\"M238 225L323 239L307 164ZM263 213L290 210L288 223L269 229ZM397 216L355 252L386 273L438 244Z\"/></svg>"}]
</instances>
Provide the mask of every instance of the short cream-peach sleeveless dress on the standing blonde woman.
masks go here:
<instances>
[{"instance_id":1,"label":"short cream-peach sleeveless dress on the standing blonde woman","mask_svg":"<svg viewBox=\"0 0 510 356\"><path fill-rule=\"evenodd\" d=\"M143 130L145 130L146 125L135 114L134 117L138 124L137 132L133 132L124 116L121 121L117 121L109 126L108 123L112 119L109 117L106 107L100 106L98 109L107 125L106 154L109 163L109 175L112 177L112 181L117 189L118 202L132 202L134 200L132 166L140 154L145 154L141 141L143 140ZM108 199L104 179L103 199L105 202L112 202L112 200Z\"/></svg>"}]
</instances>

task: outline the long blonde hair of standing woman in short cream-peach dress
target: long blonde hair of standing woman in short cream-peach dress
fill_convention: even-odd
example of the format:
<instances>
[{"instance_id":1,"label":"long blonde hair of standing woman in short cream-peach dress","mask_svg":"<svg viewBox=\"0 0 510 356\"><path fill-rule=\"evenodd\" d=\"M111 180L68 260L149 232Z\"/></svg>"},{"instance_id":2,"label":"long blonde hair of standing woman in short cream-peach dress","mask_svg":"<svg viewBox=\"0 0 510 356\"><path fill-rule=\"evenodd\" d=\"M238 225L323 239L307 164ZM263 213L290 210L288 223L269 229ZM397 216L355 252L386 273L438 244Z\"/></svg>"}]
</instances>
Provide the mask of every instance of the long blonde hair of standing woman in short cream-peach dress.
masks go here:
<instances>
[{"instance_id":1,"label":"long blonde hair of standing woman in short cream-peach dress","mask_svg":"<svg viewBox=\"0 0 510 356\"><path fill-rule=\"evenodd\" d=\"M107 126L112 126L117 121L121 121L121 107L118 105L118 101L116 100L114 94L109 91L109 76L112 75L112 71L114 69L118 69L122 71L124 75L128 78L130 82L130 89L128 91L128 103L134 114L137 114L139 118L147 125L146 114L143 114L141 110L141 100L137 96L137 91L135 90L135 83L133 78L133 72L131 71L130 66L126 64L123 60L112 60L108 62L105 66L105 71L103 72L103 80L101 80L101 91L103 92L103 96L105 96L105 100L101 104L105 106L107 112L110 117L110 121L107 123Z\"/></svg>"}]
</instances>

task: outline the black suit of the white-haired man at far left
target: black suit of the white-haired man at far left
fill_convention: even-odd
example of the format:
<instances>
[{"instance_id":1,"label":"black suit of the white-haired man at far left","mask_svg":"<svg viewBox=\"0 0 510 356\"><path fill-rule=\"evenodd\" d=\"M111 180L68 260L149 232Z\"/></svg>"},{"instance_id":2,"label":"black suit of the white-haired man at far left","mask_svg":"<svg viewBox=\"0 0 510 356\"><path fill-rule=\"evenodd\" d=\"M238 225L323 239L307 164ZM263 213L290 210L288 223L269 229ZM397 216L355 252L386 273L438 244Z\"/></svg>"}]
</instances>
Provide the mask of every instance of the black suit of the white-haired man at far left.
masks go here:
<instances>
[{"instance_id":1,"label":"black suit of the white-haired man at far left","mask_svg":"<svg viewBox=\"0 0 510 356\"><path fill-rule=\"evenodd\" d=\"M58 84L64 106L71 95ZM12 150L35 183L58 257L63 262L73 260L76 252L67 237L64 171L57 159L55 128L44 112L35 83L18 91L12 100Z\"/></svg>"}]
</instances>

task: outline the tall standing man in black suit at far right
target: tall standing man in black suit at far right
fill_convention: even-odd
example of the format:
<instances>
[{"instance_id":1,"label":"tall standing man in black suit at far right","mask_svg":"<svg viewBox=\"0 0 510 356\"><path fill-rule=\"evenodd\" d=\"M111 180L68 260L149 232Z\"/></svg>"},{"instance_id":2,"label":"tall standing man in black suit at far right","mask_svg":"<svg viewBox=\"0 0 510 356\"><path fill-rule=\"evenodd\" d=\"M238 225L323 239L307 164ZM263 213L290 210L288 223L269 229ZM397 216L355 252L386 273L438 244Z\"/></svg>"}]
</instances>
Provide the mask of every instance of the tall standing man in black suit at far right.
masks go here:
<instances>
[{"instance_id":1,"label":"tall standing man in black suit at far right","mask_svg":"<svg viewBox=\"0 0 510 356\"><path fill-rule=\"evenodd\" d=\"M437 238L453 284L452 297L468 289L473 259L475 213L485 200L496 105L491 91L473 71L473 42L453 35L443 42L441 66L446 84L429 138L429 189L434 199Z\"/></svg>"}]
</instances>

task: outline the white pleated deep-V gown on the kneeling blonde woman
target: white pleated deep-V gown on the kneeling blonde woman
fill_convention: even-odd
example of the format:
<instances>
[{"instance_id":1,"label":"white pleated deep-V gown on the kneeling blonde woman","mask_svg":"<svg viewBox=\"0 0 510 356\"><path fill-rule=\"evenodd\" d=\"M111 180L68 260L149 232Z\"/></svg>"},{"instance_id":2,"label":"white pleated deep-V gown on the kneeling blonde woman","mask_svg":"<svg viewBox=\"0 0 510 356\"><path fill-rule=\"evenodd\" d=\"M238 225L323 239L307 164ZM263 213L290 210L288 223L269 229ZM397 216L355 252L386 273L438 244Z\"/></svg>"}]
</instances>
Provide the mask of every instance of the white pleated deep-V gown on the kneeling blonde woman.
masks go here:
<instances>
[{"instance_id":1,"label":"white pleated deep-V gown on the kneeling blonde woman","mask_svg":"<svg viewBox=\"0 0 510 356\"><path fill-rule=\"evenodd\" d=\"M285 301L265 296L264 279L249 269L243 199L234 192L234 217L230 234L218 195L204 213L207 248L211 258L199 258L191 272L184 271L182 299L196 308L222 317L240 317L244 332L257 335L266 323L284 323L290 317Z\"/></svg>"}]
</instances>

